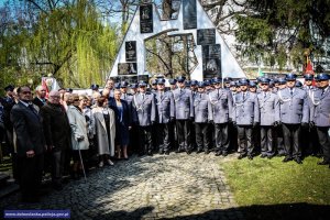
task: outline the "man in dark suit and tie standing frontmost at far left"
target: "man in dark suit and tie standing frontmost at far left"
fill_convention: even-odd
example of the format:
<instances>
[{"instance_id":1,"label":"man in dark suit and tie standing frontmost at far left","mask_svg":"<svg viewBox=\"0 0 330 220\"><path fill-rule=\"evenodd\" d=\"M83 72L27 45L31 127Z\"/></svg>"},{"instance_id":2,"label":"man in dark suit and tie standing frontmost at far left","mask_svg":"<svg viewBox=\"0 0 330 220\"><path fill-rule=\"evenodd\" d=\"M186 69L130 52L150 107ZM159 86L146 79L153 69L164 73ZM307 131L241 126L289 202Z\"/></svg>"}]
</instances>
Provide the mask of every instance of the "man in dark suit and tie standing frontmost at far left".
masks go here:
<instances>
[{"instance_id":1,"label":"man in dark suit and tie standing frontmost at far left","mask_svg":"<svg viewBox=\"0 0 330 220\"><path fill-rule=\"evenodd\" d=\"M31 103L28 86L18 88L19 102L12 108L10 119L16 133L18 178L23 201L37 201L42 182L45 139L37 110Z\"/></svg>"}]
</instances>

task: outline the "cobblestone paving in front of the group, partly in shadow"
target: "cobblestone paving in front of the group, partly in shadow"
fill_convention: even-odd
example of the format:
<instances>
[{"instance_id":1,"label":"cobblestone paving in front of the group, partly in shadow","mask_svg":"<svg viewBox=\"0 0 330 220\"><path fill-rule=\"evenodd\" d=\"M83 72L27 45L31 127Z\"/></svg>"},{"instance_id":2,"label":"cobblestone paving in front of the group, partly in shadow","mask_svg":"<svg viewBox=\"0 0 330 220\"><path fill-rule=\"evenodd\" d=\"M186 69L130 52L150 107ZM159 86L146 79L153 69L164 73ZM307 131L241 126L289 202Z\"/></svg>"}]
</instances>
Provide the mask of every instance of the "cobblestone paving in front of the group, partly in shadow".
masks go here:
<instances>
[{"instance_id":1,"label":"cobblestone paving in front of the group, partly in shadow","mask_svg":"<svg viewBox=\"0 0 330 220\"><path fill-rule=\"evenodd\" d=\"M219 166L222 157L185 153L132 156L52 190L40 204L0 201L2 209L70 209L72 219L243 219ZM230 158L226 158L230 160Z\"/></svg>"}]
</instances>

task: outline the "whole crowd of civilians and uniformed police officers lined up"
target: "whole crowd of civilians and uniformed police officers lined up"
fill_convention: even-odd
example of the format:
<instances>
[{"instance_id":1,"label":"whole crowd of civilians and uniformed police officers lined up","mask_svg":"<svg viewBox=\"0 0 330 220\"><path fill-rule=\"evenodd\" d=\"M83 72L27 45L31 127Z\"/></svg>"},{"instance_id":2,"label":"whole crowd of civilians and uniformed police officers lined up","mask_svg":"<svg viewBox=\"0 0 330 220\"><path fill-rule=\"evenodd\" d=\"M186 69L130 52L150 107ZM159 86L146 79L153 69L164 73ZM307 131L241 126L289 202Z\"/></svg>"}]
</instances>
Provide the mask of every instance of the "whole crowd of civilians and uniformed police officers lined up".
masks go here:
<instances>
[{"instance_id":1,"label":"whole crowd of civilians and uniformed police officers lined up","mask_svg":"<svg viewBox=\"0 0 330 220\"><path fill-rule=\"evenodd\" d=\"M109 79L91 96L72 89L6 87L1 135L12 146L13 176L22 199L35 201L45 169L53 187L63 176L80 177L95 164L113 160L194 151L215 156L238 152L238 160L258 155L298 164L307 155L330 164L329 75L295 74L256 80L230 77L197 81L157 77L148 85ZM4 136L0 136L3 139Z\"/></svg>"}]
</instances>

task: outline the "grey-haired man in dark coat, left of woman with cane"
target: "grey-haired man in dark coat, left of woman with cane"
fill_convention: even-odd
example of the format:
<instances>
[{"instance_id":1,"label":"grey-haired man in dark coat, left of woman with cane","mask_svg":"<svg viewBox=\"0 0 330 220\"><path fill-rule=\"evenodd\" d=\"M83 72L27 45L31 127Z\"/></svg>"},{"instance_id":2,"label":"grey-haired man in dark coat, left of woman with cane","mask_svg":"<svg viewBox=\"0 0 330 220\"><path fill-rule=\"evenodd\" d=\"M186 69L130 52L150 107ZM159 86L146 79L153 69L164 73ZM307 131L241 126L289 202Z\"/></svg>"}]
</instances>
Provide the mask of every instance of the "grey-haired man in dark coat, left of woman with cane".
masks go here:
<instances>
[{"instance_id":1,"label":"grey-haired man in dark coat, left of woman with cane","mask_svg":"<svg viewBox=\"0 0 330 220\"><path fill-rule=\"evenodd\" d=\"M48 102L40 110L43 119L44 136L51 153L53 187L61 190L65 152L70 143L70 125L64 107L59 103L59 91L51 91Z\"/></svg>"}]
</instances>

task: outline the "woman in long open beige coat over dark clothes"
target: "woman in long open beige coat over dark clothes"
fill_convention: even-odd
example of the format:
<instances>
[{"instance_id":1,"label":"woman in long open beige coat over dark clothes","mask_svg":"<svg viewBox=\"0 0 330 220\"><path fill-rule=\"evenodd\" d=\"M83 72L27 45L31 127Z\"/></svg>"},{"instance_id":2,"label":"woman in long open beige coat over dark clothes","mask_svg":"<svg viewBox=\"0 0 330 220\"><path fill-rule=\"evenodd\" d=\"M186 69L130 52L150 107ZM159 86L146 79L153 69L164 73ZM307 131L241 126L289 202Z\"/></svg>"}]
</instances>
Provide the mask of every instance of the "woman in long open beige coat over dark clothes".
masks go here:
<instances>
[{"instance_id":1,"label":"woman in long open beige coat over dark clothes","mask_svg":"<svg viewBox=\"0 0 330 220\"><path fill-rule=\"evenodd\" d=\"M97 98L96 106L91 113L94 116L94 134L99 154L99 167L107 164L113 165L110 156L114 155L114 138L116 138L116 118L112 109L108 108L108 99L106 97Z\"/></svg>"}]
</instances>

